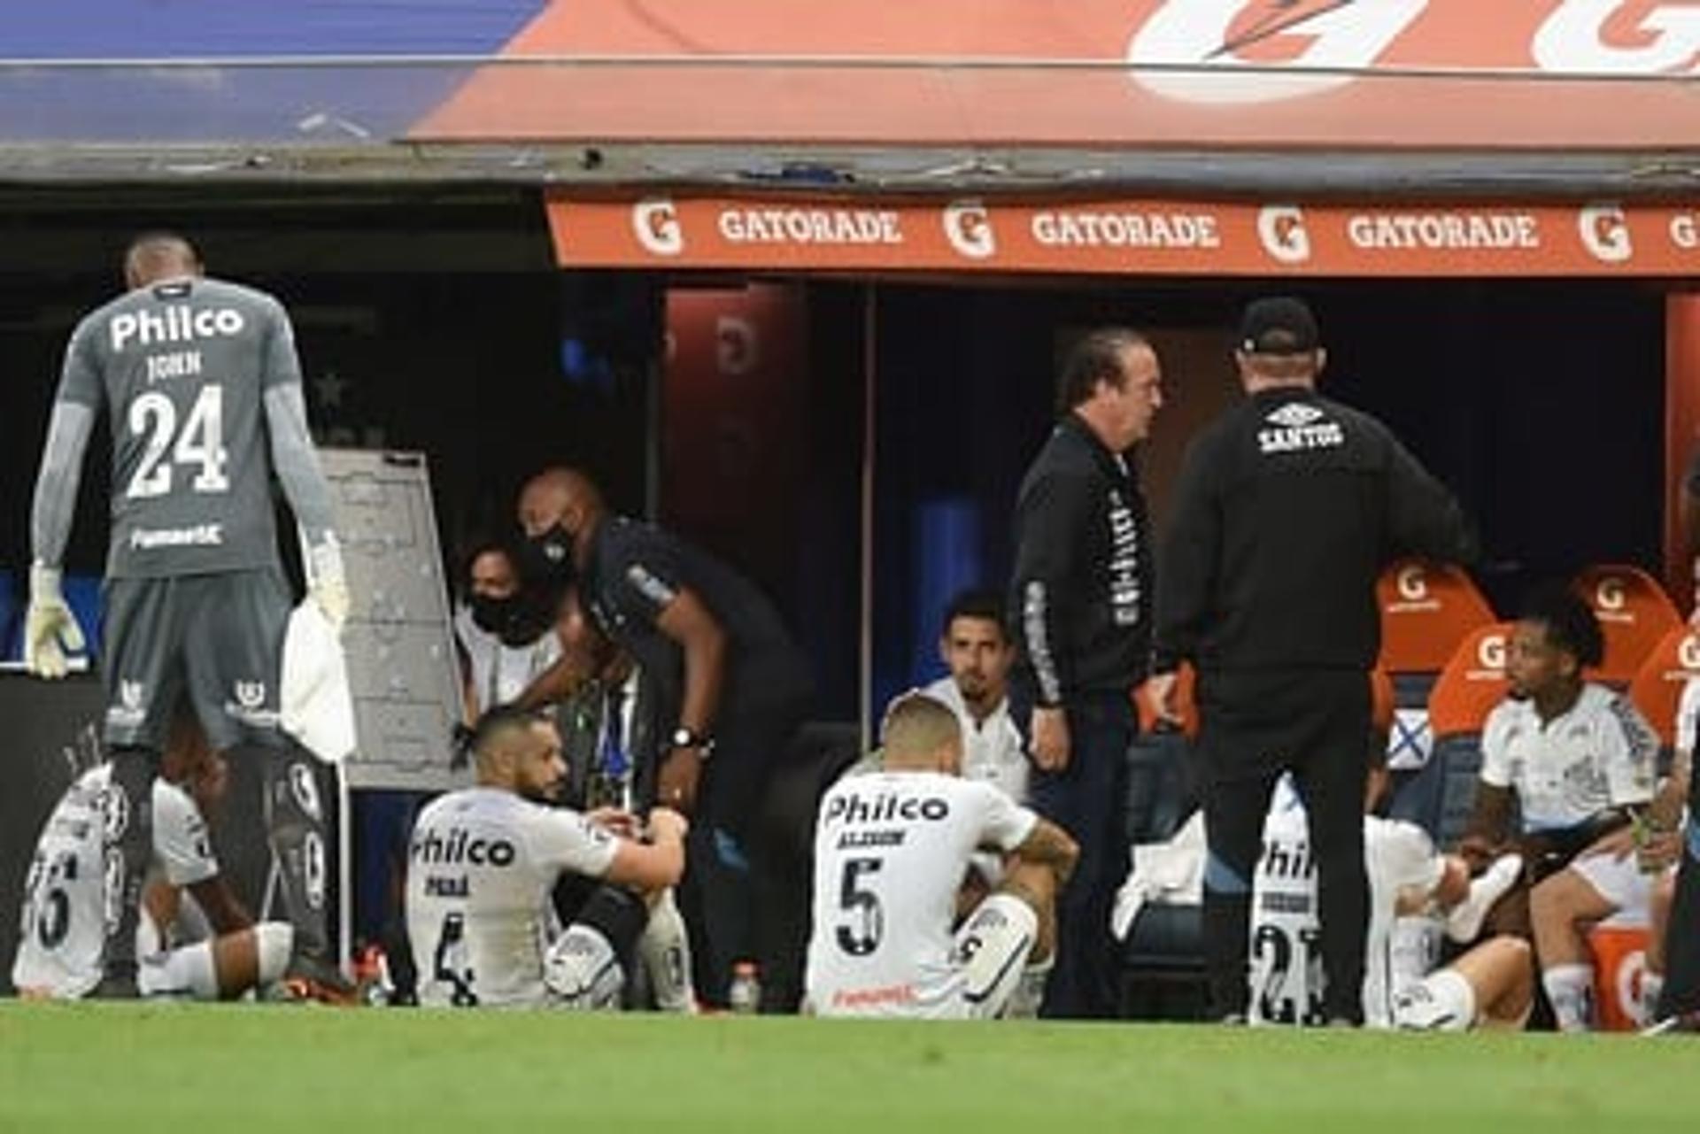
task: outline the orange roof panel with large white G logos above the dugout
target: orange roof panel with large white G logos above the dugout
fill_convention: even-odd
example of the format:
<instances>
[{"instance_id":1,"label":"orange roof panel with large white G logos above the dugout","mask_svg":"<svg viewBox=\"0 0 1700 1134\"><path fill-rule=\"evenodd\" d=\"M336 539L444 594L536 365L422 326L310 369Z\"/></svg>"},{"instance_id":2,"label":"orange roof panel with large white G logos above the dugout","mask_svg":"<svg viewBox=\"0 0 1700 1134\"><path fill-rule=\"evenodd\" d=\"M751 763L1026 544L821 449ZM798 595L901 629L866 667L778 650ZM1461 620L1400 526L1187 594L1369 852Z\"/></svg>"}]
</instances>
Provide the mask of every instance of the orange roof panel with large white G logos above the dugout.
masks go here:
<instances>
[{"instance_id":1,"label":"orange roof panel with large white G logos above the dugout","mask_svg":"<svg viewBox=\"0 0 1700 1134\"><path fill-rule=\"evenodd\" d=\"M1690 150L1693 0L556 0L420 141Z\"/></svg>"}]
</instances>

